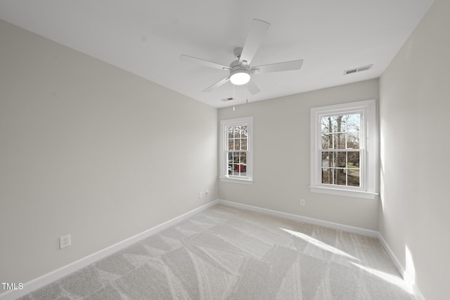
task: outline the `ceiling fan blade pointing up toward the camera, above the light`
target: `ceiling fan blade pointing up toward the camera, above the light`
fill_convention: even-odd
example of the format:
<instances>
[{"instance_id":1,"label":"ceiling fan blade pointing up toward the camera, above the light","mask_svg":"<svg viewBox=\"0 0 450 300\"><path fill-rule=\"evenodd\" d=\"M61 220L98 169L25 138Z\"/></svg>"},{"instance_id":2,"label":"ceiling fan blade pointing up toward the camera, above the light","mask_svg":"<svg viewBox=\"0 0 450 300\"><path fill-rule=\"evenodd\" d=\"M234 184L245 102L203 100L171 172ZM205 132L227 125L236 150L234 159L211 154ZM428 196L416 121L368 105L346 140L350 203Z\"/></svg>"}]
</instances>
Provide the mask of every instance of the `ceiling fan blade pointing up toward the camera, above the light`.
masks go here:
<instances>
[{"instance_id":1,"label":"ceiling fan blade pointing up toward the camera, above the light","mask_svg":"<svg viewBox=\"0 0 450 300\"><path fill-rule=\"evenodd\" d=\"M245 44L243 46L242 53L240 54L239 63L244 63L245 65L250 65L253 56L255 56L259 45L262 43L267 30L269 30L270 24L262 20L253 19L252 27L250 27L250 32L248 32L247 39L245 39Z\"/></svg>"}]
</instances>

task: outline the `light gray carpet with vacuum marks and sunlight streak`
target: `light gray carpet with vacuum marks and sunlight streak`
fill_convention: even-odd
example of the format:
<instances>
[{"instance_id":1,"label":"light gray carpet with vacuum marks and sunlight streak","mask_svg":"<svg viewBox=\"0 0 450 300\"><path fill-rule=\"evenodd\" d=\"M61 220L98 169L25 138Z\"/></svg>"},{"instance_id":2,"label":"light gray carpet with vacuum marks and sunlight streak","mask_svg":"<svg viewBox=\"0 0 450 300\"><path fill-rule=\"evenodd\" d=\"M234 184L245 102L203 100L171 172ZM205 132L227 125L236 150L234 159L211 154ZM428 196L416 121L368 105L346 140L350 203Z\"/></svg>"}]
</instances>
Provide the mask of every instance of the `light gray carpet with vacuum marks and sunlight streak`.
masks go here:
<instances>
[{"instance_id":1,"label":"light gray carpet with vacuum marks and sunlight streak","mask_svg":"<svg viewBox=\"0 0 450 300\"><path fill-rule=\"evenodd\" d=\"M414 297L373 237L216 205L21 299Z\"/></svg>"}]
</instances>

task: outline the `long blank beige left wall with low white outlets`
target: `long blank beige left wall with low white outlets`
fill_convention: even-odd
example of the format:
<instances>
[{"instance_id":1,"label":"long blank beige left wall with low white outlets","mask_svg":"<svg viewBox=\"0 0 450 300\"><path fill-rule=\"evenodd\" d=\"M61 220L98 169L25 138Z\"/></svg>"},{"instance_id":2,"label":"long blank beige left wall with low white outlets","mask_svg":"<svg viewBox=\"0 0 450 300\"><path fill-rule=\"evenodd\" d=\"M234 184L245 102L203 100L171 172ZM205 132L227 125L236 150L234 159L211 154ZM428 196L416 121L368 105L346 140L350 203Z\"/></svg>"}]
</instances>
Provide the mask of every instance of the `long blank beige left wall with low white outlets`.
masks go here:
<instances>
[{"instance_id":1,"label":"long blank beige left wall with low white outlets","mask_svg":"<svg viewBox=\"0 0 450 300\"><path fill-rule=\"evenodd\" d=\"M216 108L4 21L0 41L1 282L217 199Z\"/></svg>"}]
</instances>

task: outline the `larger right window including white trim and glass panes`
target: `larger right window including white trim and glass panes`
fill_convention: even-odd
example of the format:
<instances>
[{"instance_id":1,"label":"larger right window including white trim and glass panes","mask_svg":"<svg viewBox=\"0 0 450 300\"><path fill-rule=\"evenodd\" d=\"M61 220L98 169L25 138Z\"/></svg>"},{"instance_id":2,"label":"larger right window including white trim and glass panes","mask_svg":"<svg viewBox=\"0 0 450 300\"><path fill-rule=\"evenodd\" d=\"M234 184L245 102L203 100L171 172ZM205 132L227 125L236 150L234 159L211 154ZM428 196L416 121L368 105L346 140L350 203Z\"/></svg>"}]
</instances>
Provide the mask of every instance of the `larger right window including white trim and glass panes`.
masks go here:
<instances>
[{"instance_id":1,"label":"larger right window including white trim and glass panes","mask_svg":"<svg viewBox=\"0 0 450 300\"><path fill-rule=\"evenodd\" d=\"M373 199L375 138L375 100L311 108L311 191Z\"/></svg>"}]
</instances>

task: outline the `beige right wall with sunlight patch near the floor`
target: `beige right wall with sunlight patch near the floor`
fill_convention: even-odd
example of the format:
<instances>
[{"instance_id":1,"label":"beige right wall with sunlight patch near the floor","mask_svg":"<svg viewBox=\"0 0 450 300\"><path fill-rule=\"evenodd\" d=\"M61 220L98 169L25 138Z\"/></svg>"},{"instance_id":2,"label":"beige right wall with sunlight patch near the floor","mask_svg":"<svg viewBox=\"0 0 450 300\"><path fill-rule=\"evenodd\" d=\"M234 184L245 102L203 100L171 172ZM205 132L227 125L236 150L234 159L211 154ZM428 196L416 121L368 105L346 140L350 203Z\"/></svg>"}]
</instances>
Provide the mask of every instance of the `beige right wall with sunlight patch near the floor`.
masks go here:
<instances>
[{"instance_id":1,"label":"beige right wall with sunlight patch near the floor","mask_svg":"<svg viewBox=\"0 0 450 300\"><path fill-rule=\"evenodd\" d=\"M428 300L450 291L449 11L436 0L380 79L380 233Z\"/></svg>"}]
</instances>

